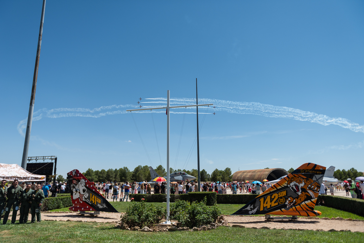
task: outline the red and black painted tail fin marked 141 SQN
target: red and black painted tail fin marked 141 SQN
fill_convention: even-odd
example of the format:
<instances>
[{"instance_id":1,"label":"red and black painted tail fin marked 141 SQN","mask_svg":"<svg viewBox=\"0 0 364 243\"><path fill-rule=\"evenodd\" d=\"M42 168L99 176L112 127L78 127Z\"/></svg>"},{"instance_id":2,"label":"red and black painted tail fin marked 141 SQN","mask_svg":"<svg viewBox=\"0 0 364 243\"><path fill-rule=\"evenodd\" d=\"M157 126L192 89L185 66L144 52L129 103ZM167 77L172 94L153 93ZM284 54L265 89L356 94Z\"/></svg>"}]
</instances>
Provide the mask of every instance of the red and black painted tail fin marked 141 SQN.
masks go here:
<instances>
[{"instance_id":1,"label":"red and black painted tail fin marked 141 SQN","mask_svg":"<svg viewBox=\"0 0 364 243\"><path fill-rule=\"evenodd\" d=\"M93 216L100 214L100 211L118 212L94 187L94 183L89 182L78 170L68 172L67 179L71 189L72 207L68 208L70 211Z\"/></svg>"}]
</instances>

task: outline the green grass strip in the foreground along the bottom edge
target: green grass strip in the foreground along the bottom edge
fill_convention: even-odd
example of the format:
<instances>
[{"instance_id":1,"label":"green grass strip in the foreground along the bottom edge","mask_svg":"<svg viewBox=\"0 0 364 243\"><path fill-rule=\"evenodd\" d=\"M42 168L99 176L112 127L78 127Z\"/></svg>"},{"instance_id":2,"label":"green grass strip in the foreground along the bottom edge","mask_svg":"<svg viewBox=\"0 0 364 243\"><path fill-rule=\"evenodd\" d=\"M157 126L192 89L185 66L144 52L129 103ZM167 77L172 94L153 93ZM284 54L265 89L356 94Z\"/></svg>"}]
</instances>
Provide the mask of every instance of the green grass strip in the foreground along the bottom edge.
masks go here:
<instances>
[{"instance_id":1,"label":"green grass strip in the foreground along the bottom edge","mask_svg":"<svg viewBox=\"0 0 364 243\"><path fill-rule=\"evenodd\" d=\"M297 230L254 230L251 228L219 227L198 232L137 232L119 230L111 224L91 222L42 221L26 225L1 225L0 242L249 242L249 243L315 243L363 242L364 233L318 232Z\"/></svg>"}]
</instances>

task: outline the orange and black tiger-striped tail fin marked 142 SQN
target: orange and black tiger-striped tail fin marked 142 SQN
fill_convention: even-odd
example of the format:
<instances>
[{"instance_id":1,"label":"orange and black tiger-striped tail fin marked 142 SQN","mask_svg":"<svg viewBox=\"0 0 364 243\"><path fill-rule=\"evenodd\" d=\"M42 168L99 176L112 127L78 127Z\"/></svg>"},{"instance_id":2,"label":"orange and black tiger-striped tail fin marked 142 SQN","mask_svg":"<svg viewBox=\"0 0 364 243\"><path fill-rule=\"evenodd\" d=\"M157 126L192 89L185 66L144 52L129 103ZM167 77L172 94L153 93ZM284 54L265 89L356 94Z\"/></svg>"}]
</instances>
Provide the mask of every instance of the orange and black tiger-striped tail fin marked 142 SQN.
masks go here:
<instances>
[{"instance_id":1,"label":"orange and black tiger-striped tail fin marked 142 SQN","mask_svg":"<svg viewBox=\"0 0 364 243\"><path fill-rule=\"evenodd\" d=\"M317 164L302 164L233 215L265 214L266 219L297 219L297 216L321 215L314 207L325 170L326 167ZM272 218L271 214L291 215L292 218Z\"/></svg>"}]
</instances>

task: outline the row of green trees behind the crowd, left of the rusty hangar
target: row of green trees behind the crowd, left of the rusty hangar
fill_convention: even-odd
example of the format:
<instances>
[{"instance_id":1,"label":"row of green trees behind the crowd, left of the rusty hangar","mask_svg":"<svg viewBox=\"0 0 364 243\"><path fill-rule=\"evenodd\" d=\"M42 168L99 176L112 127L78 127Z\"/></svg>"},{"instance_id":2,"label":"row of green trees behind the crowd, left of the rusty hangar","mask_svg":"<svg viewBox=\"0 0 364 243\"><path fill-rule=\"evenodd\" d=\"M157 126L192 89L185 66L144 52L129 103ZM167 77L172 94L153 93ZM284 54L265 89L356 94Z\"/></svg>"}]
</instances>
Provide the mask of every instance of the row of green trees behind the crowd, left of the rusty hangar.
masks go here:
<instances>
[{"instance_id":1,"label":"row of green trees behind the crowd, left of the rusty hangar","mask_svg":"<svg viewBox=\"0 0 364 243\"><path fill-rule=\"evenodd\" d=\"M197 178L197 170L174 170L173 168L170 168L169 174L177 172L177 171L183 171L186 172L189 175L192 175ZM155 172L159 176L166 176L167 171L166 169L159 165L157 168L155 168ZM149 166L137 166L134 168L133 171L130 171L128 167L123 167L119 169L108 169L108 170L92 170L91 168L88 168L86 172L82 173L90 182L142 182L144 180L150 181L152 178L150 176L149 172ZM222 182L230 182L232 178L232 172L230 168L226 168L225 170L218 170L215 169L211 175L206 172L205 169L200 171L201 175L201 181L222 181ZM62 180L61 180L62 181Z\"/></svg>"}]
</instances>

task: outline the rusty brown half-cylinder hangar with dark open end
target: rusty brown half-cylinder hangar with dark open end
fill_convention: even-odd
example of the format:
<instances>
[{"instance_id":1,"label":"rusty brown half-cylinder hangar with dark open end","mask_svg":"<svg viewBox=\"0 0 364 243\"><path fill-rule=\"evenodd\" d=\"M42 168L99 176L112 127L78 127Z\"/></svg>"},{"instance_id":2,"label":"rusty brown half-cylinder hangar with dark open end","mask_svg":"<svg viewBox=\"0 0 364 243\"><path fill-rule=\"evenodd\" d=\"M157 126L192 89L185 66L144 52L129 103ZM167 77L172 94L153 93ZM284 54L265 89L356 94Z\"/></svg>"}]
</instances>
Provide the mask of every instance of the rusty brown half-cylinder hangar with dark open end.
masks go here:
<instances>
[{"instance_id":1,"label":"rusty brown half-cylinder hangar with dark open end","mask_svg":"<svg viewBox=\"0 0 364 243\"><path fill-rule=\"evenodd\" d=\"M249 182L253 182L254 180L263 182L263 180L265 179L267 179L268 181L277 180L281 176L285 176L288 174L288 171L282 168L237 171L233 174L232 180L233 182L245 182L246 180L248 180Z\"/></svg>"}]
</instances>

